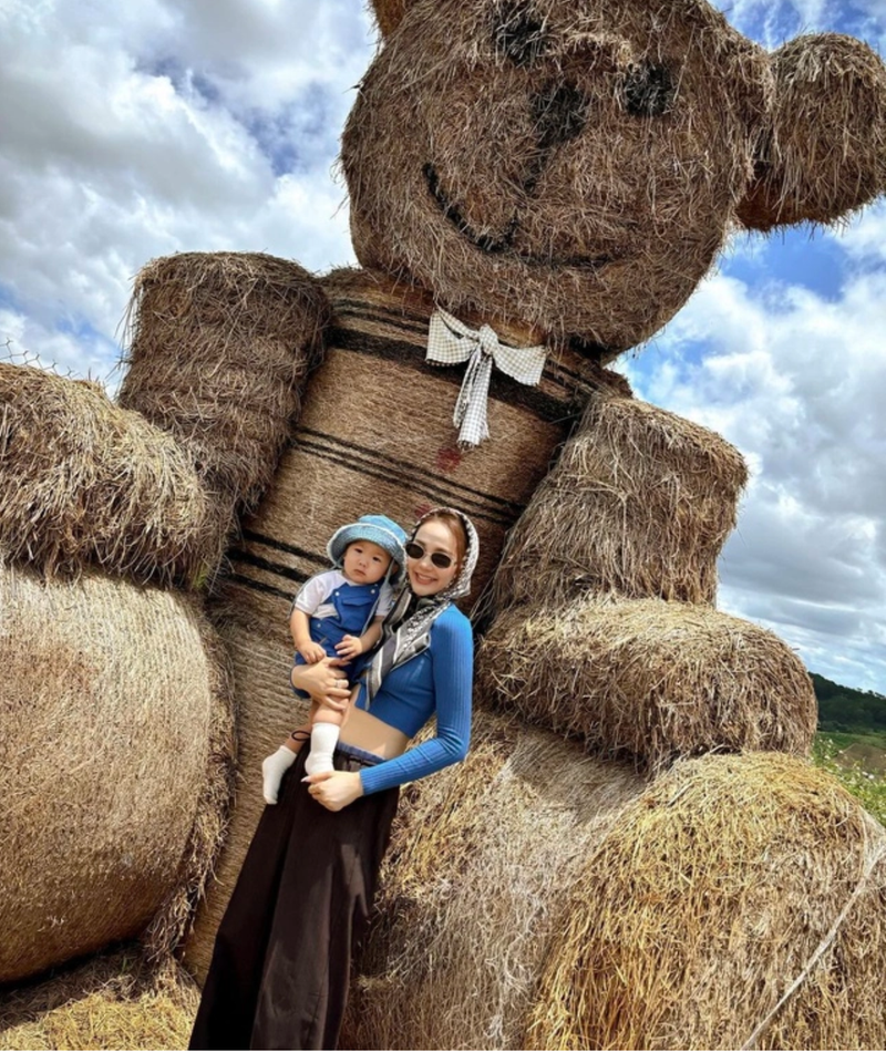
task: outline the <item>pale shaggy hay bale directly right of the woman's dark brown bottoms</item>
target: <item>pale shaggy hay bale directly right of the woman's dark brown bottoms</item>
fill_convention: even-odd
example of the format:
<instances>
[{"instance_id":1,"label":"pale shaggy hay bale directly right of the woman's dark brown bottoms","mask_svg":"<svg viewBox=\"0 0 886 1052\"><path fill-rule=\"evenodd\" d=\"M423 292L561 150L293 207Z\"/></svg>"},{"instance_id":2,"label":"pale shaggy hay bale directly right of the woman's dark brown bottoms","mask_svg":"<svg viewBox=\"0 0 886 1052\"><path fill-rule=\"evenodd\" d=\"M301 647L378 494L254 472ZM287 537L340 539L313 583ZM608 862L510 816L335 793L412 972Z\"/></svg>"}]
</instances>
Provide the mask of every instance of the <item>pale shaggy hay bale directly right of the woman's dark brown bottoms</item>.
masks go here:
<instances>
[{"instance_id":1,"label":"pale shaggy hay bale directly right of the woman's dark brown bottoms","mask_svg":"<svg viewBox=\"0 0 886 1052\"><path fill-rule=\"evenodd\" d=\"M403 793L341 1048L521 1049L562 904L643 783L488 712Z\"/></svg>"}]
</instances>

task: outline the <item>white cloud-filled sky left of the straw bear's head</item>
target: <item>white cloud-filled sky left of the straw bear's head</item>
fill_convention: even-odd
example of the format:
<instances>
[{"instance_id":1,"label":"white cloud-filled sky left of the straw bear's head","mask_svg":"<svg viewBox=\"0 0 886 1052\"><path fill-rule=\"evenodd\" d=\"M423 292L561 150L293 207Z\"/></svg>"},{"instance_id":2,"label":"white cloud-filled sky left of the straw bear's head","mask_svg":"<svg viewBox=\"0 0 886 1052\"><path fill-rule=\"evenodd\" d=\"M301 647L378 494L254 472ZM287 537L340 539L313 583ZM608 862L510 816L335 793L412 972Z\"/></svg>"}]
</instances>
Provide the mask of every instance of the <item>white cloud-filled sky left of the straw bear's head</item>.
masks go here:
<instances>
[{"instance_id":1,"label":"white cloud-filled sky left of the straw bear's head","mask_svg":"<svg viewBox=\"0 0 886 1052\"><path fill-rule=\"evenodd\" d=\"M159 255L352 259L330 167L372 48L358 0L7 2L0 30L0 286L27 338L112 339Z\"/></svg>"}]
</instances>

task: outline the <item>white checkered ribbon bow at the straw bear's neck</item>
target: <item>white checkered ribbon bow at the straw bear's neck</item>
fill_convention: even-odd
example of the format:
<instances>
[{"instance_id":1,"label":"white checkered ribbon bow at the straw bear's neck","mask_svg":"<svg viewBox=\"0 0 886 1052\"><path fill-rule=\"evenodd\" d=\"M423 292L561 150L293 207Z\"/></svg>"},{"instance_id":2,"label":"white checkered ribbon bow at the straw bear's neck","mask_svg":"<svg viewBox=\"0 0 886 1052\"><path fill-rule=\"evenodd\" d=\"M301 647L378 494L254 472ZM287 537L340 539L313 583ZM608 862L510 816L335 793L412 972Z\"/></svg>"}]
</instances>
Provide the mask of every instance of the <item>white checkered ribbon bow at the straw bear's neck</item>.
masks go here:
<instances>
[{"instance_id":1,"label":"white checkered ribbon bow at the straw bear's neck","mask_svg":"<svg viewBox=\"0 0 886 1052\"><path fill-rule=\"evenodd\" d=\"M467 362L452 414L453 423L461 427L460 446L480 445L490 437L486 400L493 364L518 383L535 386L542 379L546 355L544 347L507 347L498 342L498 337L488 326L468 329L445 310L437 308L434 311L427 333L426 360L437 365Z\"/></svg>"}]
</instances>

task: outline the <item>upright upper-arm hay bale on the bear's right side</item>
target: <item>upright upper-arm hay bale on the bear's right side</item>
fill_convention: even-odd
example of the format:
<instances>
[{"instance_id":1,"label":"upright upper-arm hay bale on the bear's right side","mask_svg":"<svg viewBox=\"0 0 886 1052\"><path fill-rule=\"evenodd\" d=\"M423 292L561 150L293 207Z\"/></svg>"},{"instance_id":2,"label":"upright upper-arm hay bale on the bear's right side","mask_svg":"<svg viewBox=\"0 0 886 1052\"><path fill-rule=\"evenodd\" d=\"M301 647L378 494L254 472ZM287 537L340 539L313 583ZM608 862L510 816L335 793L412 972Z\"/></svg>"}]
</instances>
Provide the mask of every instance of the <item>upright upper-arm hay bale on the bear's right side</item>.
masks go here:
<instances>
[{"instance_id":1,"label":"upright upper-arm hay bale on the bear's right side","mask_svg":"<svg viewBox=\"0 0 886 1052\"><path fill-rule=\"evenodd\" d=\"M591 399L511 532L493 604L593 592L713 605L748 481L720 435L635 399Z\"/></svg>"}]
</instances>

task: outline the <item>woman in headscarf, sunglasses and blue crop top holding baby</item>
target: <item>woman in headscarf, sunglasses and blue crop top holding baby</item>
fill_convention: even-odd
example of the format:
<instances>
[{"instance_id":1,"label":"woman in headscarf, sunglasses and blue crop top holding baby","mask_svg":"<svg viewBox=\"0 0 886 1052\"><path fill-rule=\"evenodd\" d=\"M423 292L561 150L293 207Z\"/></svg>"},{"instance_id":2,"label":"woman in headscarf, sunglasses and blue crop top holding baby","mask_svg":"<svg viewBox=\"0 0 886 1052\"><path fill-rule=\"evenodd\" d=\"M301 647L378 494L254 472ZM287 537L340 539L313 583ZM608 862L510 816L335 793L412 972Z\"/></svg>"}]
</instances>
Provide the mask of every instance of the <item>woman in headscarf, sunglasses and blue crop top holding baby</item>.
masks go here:
<instances>
[{"instance_id":1,"label":"woman in headscarf, sunglasses and blue crop top holding baby","mask_svg":"<svg viewBox=\"0 0 886 1052\"><path fill-rule=\"evenodd\" d=\"M218 929L192 1049L336 1046L398 786L464 759L473 642L453 600L470 590L476 533L460 512L435 508L406 556L408 585L342 726L336 770L306 777L300 754L265 809ZM347 704L330 659L297 667L292 683ZM436 736L406 752L434 713Z\"/></svg>"}]
</instances>

